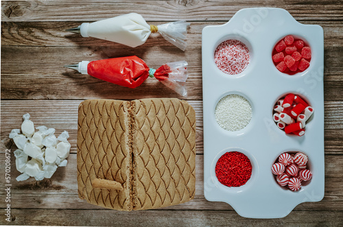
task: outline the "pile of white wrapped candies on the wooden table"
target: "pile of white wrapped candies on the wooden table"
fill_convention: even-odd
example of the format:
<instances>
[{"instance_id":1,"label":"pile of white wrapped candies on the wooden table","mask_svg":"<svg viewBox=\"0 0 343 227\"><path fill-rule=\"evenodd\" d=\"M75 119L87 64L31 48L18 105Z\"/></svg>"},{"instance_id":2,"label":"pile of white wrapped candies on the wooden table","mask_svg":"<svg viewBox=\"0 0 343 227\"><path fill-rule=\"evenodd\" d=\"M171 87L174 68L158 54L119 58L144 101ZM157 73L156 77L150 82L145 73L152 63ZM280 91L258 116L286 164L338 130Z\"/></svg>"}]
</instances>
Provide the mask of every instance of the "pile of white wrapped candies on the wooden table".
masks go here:
<instances>
[{"instance_id":1,"label":"pile of white wrapped candies on the wooden table","mask_svg":"<svg viewBox=\"0 0 343 227\"><path fill-rule=\"evenodd\" d=\"M16 169L22 174L17 181L27 180L30 176L36 180L51 178L57 167L67 165L70 143L67 141L69 134L64 131L56 138L55 129L39 126L34 130L34 123L29 120L29 114L23 115L21 132L14 129L10 133L18 150L14 152L16 157Z\"/></svg>"}]
</instances>

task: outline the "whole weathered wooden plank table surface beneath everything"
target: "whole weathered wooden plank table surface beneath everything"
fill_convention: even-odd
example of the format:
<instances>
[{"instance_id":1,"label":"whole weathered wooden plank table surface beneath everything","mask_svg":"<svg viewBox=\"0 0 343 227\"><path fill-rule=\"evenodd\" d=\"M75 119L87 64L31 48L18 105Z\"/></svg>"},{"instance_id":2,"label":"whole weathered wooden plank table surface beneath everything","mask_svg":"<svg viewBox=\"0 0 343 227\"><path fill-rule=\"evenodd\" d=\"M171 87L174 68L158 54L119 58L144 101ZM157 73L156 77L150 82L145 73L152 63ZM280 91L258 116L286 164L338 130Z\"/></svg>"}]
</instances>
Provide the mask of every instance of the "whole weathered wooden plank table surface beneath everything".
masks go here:
<instances>
[{"instance_id":1,"label":"whole weathered wooden plank table surface beneath everything","mask_svg":"<svg viewBox=\"0 0 343 227\"><path fill-rule=\"evenodd\" d=\"M1 185L5 182L5 150L16 149L8 134L21 126L22 115L70 134L71 155L50 180L16 182L19 172L11 156L11 213L6 222L1 187L0 224L55 226L343 226L343 2L320 1L2 1L1 6ZM324 29L325 195L305 202L282 219L240 217L224 202L209 202L203 186L201 32L222 25L242 8L278 7L300 23ZM156 25L191 22L185 52L161 36L131 48L64 30L82 22L137 12ZM120 212L93 206L78 198L76 134L78 104L84 99L179 97L157 80L130 89L80 75L64 64L137 55L150 67L187 60L187 101L196 110L196 197L191 202L150 211ZM275 201L277 202L277 201Z\"/></svg>"}]
</instances>

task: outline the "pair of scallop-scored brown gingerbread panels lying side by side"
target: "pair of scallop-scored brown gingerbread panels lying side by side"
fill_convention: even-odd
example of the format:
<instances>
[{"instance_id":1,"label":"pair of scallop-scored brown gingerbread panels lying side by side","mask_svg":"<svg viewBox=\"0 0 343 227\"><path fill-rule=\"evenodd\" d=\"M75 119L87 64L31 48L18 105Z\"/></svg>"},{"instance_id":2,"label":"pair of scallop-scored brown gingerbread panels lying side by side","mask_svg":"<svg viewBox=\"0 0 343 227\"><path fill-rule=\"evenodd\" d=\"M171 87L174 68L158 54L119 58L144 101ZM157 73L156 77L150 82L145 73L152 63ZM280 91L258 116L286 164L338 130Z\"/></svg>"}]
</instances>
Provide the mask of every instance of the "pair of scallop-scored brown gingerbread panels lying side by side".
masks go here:
<instances>
[{"instance_id":1,"label":"pair of scallop-scored brown gingerbread panels lying side by side","mask_svg":"<svg viewBox=\"0 0 343 227\"><path fill-rule=\"evenodd\" d=\"M87 100L78 116L78 193L132 211L187 202L195 193L196 118L187 101ZM96 189L95 178L123 190Z\"/></svg>"}]
</instances>

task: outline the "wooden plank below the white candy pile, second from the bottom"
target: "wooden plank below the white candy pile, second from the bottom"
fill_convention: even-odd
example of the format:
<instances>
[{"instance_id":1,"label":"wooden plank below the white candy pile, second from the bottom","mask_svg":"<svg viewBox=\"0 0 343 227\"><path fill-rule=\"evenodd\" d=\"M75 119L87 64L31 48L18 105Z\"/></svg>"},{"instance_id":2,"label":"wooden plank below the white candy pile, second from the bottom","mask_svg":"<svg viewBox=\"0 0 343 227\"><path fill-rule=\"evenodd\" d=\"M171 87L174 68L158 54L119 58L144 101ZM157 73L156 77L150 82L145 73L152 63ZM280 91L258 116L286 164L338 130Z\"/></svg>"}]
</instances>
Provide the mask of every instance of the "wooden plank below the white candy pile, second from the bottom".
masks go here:
<instances>
[{"instance_id":1,"label":"wooden plank below the white candy pile, second from the bottom","mask_svg":"<svg viewBox=\"0 0 343 227\"><path fill-rule=\"evenodd\" d=\"M211 211L232 211L233 208L224 202L209 202L204 198L204 156L196 155L196 195L195 199L184 204L161 208L163 210L211 210ZM34 178L24 182L16 182L19 171L15 168L15 158L12 155L12 208L69 208L69 209L104 209L100 206L88 204L78 198L76 154L68 158L67 167L59 167L54 176L49 180L45 179L36 182ZM0 160L1 169L4 160ZM294 208L294 211L343 211L343 159L338 155L325 156L325 195L320 202L305 202ZM4 175L0 176L4 182ZM271 182L276 184L276 182ZM210 189L211 187L209 187ZM0 196L5 191L0 191Z\"/></svg>"}]
</instances>

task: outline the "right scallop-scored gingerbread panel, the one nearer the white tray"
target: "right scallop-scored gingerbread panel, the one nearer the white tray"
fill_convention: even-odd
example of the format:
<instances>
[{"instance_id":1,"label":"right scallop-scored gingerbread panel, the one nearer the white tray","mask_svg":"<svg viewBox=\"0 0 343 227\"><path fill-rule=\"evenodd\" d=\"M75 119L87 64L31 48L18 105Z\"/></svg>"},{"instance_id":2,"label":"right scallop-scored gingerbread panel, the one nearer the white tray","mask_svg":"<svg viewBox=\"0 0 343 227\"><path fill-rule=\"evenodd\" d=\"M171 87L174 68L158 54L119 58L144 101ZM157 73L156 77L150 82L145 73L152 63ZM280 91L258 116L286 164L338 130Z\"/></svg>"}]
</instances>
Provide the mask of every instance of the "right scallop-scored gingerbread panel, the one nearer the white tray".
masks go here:
<instances>
[{"instance_id":1,"label":"right scallop-scored gingerbread panel, the one nearer the white tray","mask_svg":"<svg viewBox=\"0 0 343 227\"><path fill-rule=\"evenodd\" d=\"M195 112L179 99L134 100L134 209L194 198Z\"/></svg>"}]
</instances>

